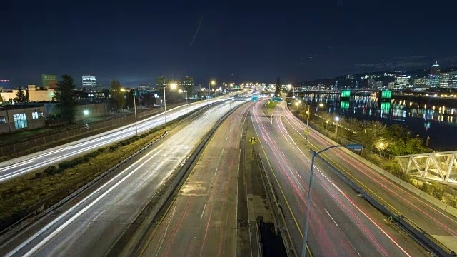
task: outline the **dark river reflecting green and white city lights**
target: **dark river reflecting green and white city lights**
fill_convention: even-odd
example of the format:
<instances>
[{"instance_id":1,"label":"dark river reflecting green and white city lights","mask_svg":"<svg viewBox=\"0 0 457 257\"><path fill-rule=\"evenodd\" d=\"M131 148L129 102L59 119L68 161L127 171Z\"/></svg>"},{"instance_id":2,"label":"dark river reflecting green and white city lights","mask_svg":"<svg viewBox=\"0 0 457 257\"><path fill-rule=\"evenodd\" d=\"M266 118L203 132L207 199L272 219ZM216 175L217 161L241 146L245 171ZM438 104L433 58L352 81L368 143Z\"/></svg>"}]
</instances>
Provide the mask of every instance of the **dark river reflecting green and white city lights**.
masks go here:
<instances>
[{"instance_id":1,"label":"dark river reflecting green and white city lights","mask_svg":"<svg viewBox=\"0 0 457 257\"><path fill-rule=\"evenodd\" d=\"M457 100L435 97L392 96L378 99L370 94L356 94L341 99L338 94L296 93L296 99L313 109L337 113L356 119L404 124L423 141L430 137L429 147L436 151L457 150ZM323 104L323 106L319 106Z\"/></svg>"}]
</instances>

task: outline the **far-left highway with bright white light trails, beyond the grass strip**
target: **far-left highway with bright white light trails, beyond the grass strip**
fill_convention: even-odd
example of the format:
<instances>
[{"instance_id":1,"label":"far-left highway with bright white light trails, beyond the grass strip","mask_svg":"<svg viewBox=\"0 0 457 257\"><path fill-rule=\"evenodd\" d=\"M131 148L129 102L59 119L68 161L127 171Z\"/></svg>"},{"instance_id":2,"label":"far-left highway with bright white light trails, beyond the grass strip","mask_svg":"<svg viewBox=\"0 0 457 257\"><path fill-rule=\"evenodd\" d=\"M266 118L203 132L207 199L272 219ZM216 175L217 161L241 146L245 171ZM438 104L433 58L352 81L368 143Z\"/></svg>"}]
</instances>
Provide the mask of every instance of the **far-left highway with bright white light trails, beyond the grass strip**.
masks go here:
<instances>
[{"instance_id":1,"label":"far-left highway with bright white light trails, beyond the grass strip","mask_svg":"<svg viewBox=\"0 0 457 257\"><path fill-rule=\"evenodd\" d=\"M240 93L238 92L233 94ZM199 101L193 104L187 104L167 110L166 120L167 122L172 121L179 116L183 116L189 112L201 108L202 106L213 104L218 101L225 101L226 99L227 97L223 96L219 99ZM161 126L164 123L164 113L151 116L148 119L144 119L138 122L138 132L141 133L143 131L148 131L157 126ZM8 181L11 178L15 178L16 176L21 176L24 173L49 166L53 163L59 163L61 161L68 160L69 158L74 158L88 151L94 151L97 148L107 146L117 141L121 141L125 138L129 138L130 136L134 136L135 134L135 124L130 124L128 126L114 129L105 133L100 133L96 136L84 138L64 146L57 146L56 148L51 148L43 152L31 154L30 156L16 158L4 163L0 163L0 183Z\"/></svg>"}]
</instances>

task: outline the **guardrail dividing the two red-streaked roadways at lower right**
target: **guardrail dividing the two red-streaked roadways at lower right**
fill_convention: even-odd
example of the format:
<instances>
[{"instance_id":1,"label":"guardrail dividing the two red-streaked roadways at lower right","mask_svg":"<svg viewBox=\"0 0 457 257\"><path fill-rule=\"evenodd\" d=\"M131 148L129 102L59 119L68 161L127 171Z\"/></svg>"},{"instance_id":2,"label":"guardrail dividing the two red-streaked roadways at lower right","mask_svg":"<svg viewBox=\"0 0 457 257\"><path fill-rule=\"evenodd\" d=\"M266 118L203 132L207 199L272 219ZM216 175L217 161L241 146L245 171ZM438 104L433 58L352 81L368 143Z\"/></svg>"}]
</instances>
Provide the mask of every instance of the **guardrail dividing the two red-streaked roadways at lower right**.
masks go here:
<instances>
[{"instance_id":1,"label":"guardrail dividing the two red-streaked roadways at lower right","mask_svg":"<svg viewBox=\"0 0 457 257\"><path fill-rule=\"evenodd\" d=\"M431 237L423 231L419 226L417 226L413 221L409 220L405 216L403 216L401 213L396 213L396 211L391 210L390 208L387 208L385 205L381 203L381 201L376 200L376 196L372 196L365 191L363 191L362 188L358 187L356 183L351 181L346 175L344 175L341 171L339 171L337 168L335 168L331 163L326 161L324 158L321 156L316 156L319 161L321 161L324 165L326 165L328 168L333 171L333 173L336 174L339 178L341 178L344 182L348 184L351 188L353 188L356 193L359 193L363 198L368 201L368 203L371 203L372 206L377 208L381 213L384 215L388 216L388 218L396 223L398 227L400 227L403 231L408 233L414 240L416 240L418 243L421 244L424 248L426 248L428 251L431 251L433 254L436 254L437 256L456 256L456 253L451 251L451 249L447 248L443 244L441 244L439 241L436 241L435 238Z\"/></svg>"}]
</instances>

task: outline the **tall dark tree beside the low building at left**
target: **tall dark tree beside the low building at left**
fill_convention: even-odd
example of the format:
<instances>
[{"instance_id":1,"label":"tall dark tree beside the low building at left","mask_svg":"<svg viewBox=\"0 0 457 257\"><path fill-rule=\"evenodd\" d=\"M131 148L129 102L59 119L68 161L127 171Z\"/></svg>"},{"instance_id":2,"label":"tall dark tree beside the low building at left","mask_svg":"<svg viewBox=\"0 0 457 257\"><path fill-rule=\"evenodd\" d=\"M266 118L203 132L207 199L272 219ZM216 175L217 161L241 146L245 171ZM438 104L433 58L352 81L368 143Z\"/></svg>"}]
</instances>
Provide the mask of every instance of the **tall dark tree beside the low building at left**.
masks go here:
<instances>
[{"instance_id":1,"label":"tall dark tree beside the low building at left","mask_svg":"<svg viewBox=\"0 0 457 257\"><path fill-rule=\"evenodd\" d=\"M76 119L76 109L78 103L74 98L74 89L76 85L74 84L73 78L70 75L62 75L62 80L57 84L57 109L59 110L59 116L62 119L69 122L74 122Z\"/></svg>"}]
</instances>

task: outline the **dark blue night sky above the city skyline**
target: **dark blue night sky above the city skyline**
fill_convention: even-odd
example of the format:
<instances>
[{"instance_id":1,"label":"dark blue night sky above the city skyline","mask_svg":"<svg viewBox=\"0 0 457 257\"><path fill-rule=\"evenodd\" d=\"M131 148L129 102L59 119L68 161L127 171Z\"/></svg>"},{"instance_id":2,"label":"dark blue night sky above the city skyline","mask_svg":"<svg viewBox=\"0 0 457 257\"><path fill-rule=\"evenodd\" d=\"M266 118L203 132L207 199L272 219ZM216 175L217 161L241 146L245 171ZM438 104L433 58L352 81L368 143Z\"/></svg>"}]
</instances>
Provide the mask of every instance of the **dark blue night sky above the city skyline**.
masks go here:
<instances>
[{"instance_id":1,"label":"dark blue night sky above the city skyline","mask_svg":"<svg viewBox=\"0 0 457 257\"><path fill-rule=\"evenodd\" d=\"M418 2L1 1L0 79L286 84L457 64L456 3Z\"/></svg>"}]
</instances>

